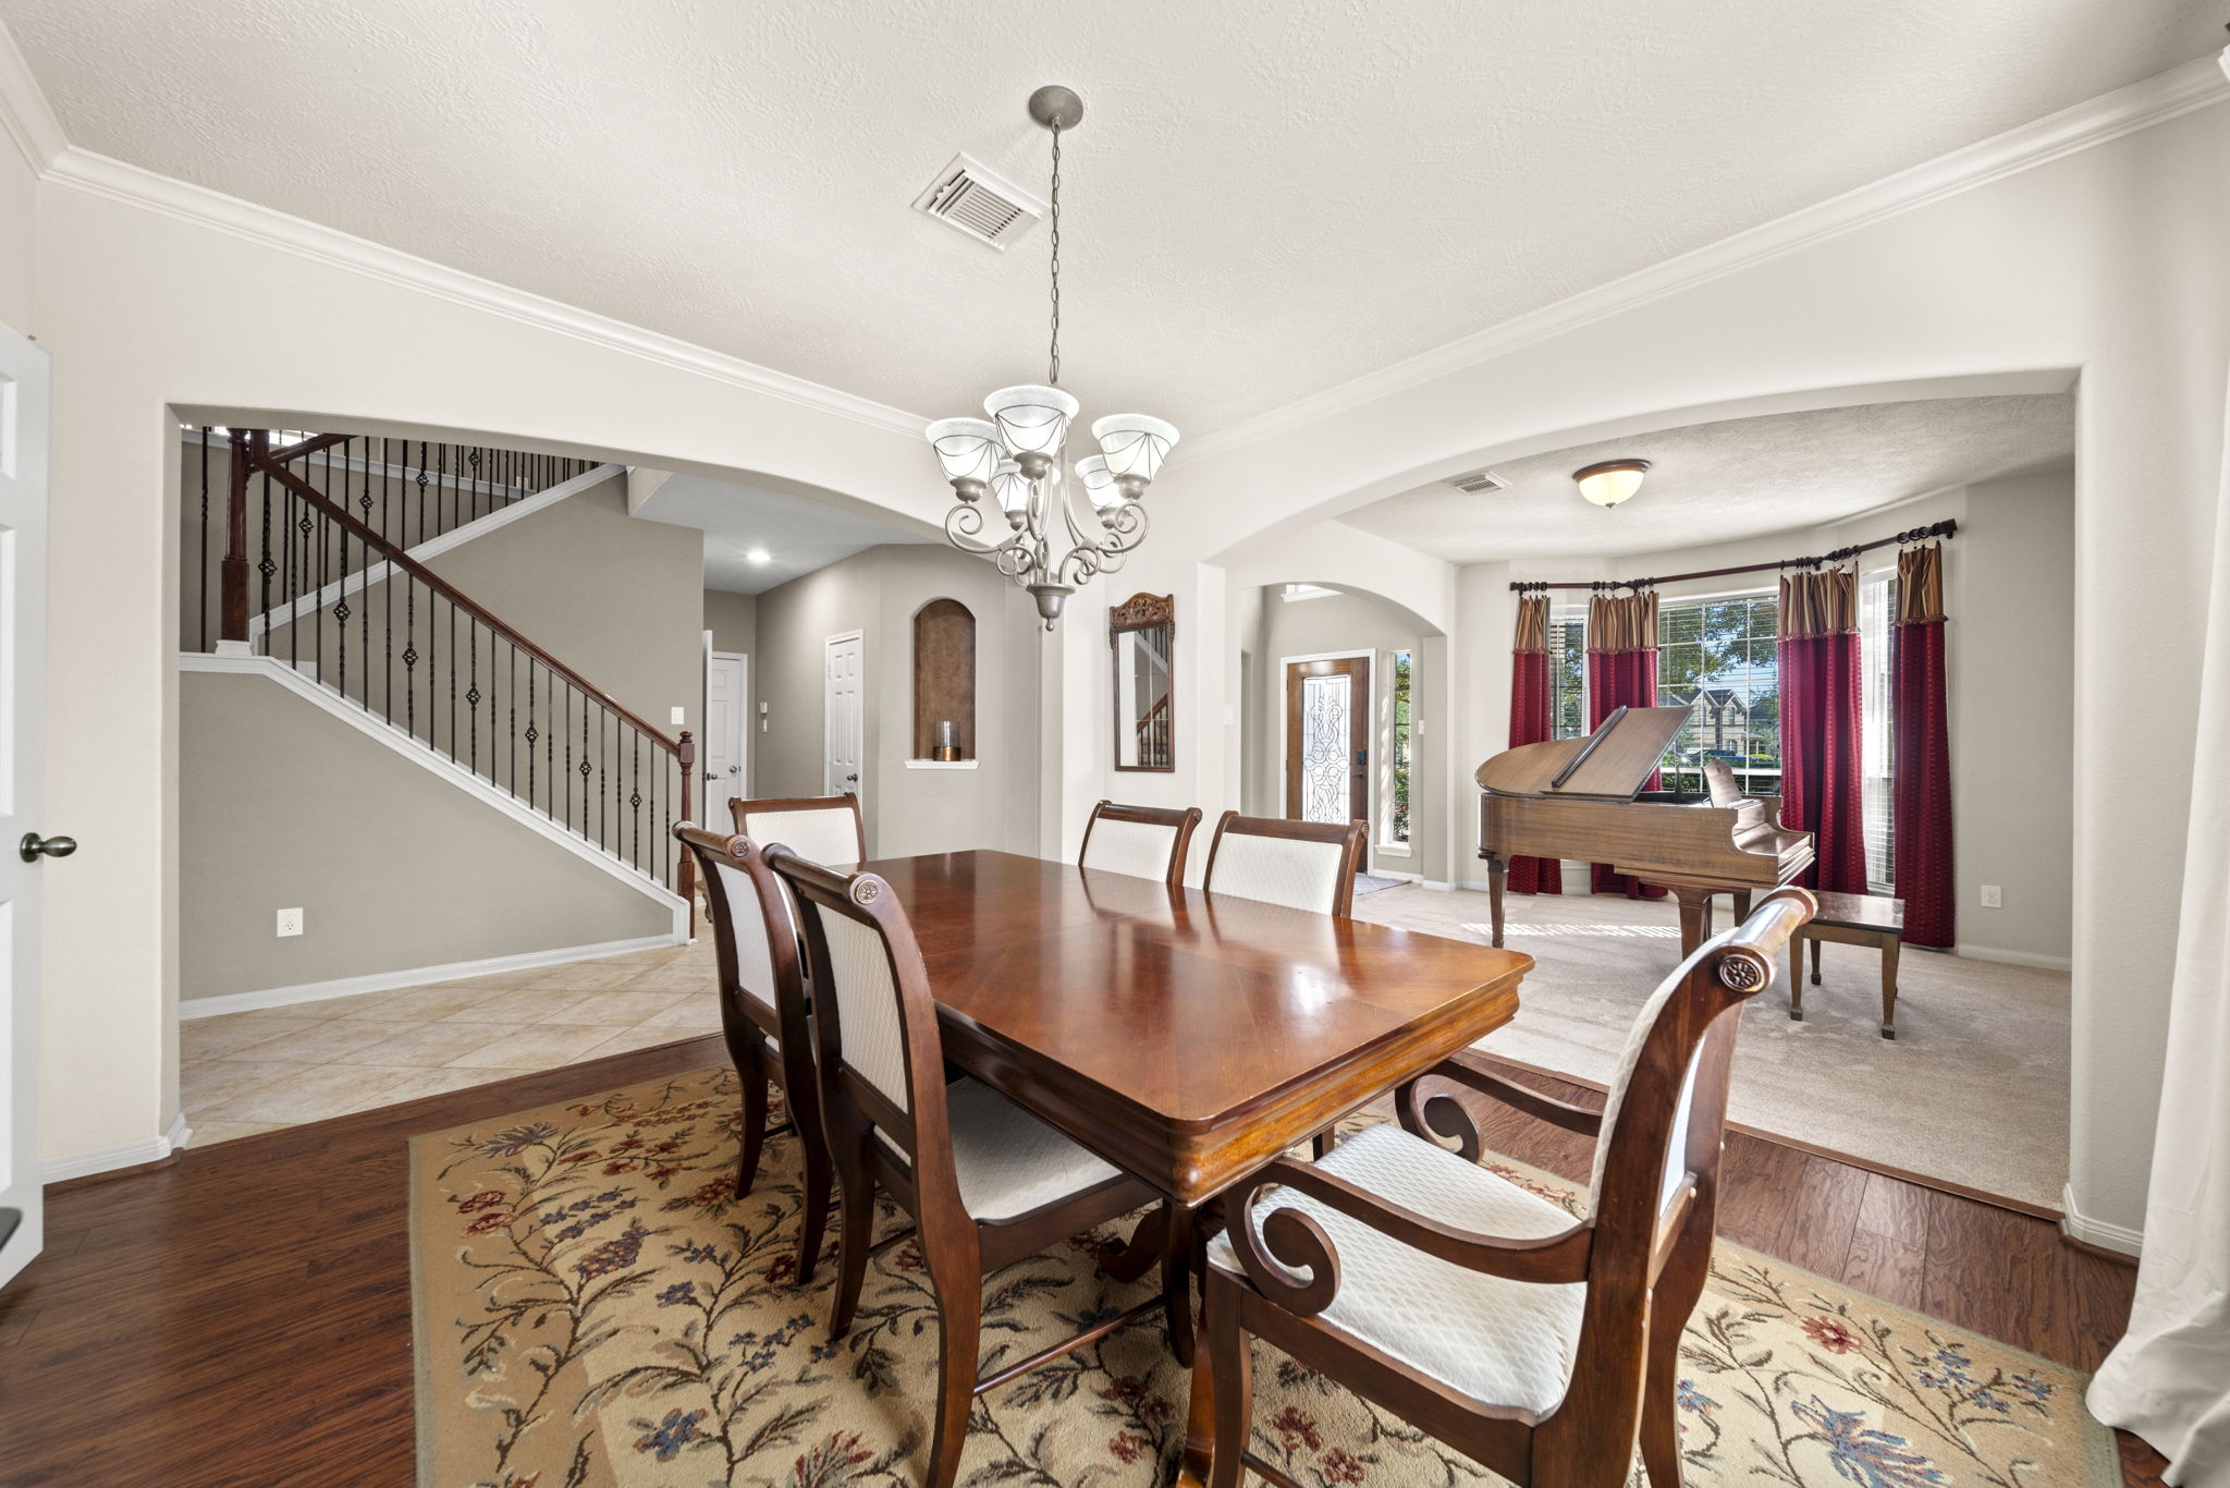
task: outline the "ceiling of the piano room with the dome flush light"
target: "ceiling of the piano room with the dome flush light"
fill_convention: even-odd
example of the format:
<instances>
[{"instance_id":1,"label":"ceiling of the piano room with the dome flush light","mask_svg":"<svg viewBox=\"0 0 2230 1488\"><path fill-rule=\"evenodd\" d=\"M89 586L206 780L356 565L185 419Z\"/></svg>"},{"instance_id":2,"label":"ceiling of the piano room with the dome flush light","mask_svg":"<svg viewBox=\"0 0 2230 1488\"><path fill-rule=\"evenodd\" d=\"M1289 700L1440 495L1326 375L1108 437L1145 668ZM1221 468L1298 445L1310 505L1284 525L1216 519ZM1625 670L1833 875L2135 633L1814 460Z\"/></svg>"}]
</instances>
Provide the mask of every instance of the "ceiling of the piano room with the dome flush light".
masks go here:
<instances>
[{"instance_id":1,"label":"ceiling of the piano room with the dome flush light","mask_svg":"<svg viewBox=\"0 0 2230 1488\"><path fill-rule=\"evenodd\" d=\"M1447 562L1655 553L1840 522L1924 491L2074 457L2072 393L1945 397L1688 424L1490 466L1507 491L1418 486L1342 522ZM1592 506L1572 471L1650 462L1623 506Z\"/></svg>"}]
</instances>

